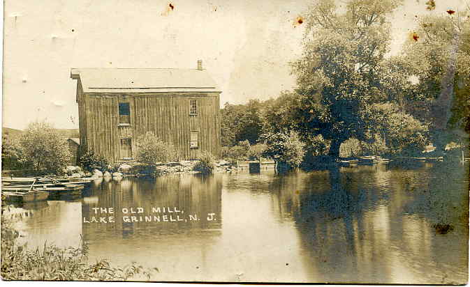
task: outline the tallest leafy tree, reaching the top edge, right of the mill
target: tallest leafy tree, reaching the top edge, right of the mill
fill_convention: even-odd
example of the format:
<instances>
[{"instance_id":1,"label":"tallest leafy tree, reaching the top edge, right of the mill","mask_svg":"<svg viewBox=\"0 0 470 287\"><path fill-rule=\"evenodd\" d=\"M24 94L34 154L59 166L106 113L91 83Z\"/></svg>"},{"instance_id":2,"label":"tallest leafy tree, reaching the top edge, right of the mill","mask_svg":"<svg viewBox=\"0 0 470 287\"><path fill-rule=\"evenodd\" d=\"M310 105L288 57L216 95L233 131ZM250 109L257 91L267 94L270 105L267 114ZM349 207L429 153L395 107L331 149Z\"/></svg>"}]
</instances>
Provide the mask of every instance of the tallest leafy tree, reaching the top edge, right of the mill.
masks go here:
<instances>
[{"instance_id":1,"label":"tallest leafy tree, reaching the top edge, right of the mill","mask_svg":"<svg viewBox=\"0 0 470 287\"><path fill-rule=\"evenodd\" d=\"M304 52L293 71L303 95L304 127L330 139L334 157L346 139L366 139L370 127L362 111L389 100L390 85L383 82L383 74L396 65L385 59L390 44L387 15L399 3L351 0L340 12L335 1L321 0L309 9Z\"/></svg>"}]
</instances>

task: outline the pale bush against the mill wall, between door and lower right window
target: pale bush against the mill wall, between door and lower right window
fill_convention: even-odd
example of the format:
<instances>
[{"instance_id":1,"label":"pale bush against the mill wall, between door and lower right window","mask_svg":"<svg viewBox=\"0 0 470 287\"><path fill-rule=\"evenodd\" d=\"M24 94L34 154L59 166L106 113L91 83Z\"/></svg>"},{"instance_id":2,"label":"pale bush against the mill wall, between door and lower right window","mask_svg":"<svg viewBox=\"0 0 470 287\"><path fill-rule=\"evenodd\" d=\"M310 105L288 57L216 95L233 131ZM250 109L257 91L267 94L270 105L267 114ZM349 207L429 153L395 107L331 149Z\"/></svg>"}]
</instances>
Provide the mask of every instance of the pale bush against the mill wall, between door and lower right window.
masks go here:
<instances>
[{"instance_id":1,"label":"pale bush against the mill wall, between door and lower right window","mask_svg":"<svg viewBox=\"0 0 470 287\"><path fill-rule=\"evenodd\" d=\"M177 160L175 148L171 143L161 141L153 132L147 132L136 141L136 160L142 164L155 166L159 162Z\"/></svg>"}]
</instances>

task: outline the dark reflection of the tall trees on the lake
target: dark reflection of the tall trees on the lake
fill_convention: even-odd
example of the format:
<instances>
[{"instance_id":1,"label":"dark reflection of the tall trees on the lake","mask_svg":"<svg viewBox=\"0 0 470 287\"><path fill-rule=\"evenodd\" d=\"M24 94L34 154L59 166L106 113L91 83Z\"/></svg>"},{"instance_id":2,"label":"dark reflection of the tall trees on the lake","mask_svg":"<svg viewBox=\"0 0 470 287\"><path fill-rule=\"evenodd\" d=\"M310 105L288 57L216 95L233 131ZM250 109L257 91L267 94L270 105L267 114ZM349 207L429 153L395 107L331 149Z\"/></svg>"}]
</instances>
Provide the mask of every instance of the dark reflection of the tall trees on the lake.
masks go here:
<instances>
[{"instance_id":1,"label":"dark reflection of the tall trees on the lake","mask_svg":"<svg viewBox=\"0 0 470 287\"><path fill-rule=\"evenodd\" d=\"M464 274L468 238L464 174L448 166L411 170L359 166L330 169L325 183L324 174L308 173L303 183L295 185L298 194L284 187L279 190L284 197L281 209L292 213L304 248L302 257L315 270L315 281L429 283L441 280L449 270ZM462 218L466 220L460 220L460 228L447 238L432 228L435 222ZM429 272L430 268L435 271Z\"/></svg>"}]
</instances>

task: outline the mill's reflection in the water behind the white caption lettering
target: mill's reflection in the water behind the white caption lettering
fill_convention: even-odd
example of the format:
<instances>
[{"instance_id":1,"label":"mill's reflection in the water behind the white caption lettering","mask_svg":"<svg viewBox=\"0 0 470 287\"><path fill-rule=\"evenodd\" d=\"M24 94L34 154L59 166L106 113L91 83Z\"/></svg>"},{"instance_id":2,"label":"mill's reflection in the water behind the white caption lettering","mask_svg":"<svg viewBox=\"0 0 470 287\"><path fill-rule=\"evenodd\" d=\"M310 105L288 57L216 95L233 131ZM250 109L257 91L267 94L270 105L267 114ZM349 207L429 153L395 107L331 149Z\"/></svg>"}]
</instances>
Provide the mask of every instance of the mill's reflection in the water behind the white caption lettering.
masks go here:
<instances>
[{"instance_id":1,"label":"mill's reflection in the water behind the white caption lettering","mask_svg":"<svg viewBox=\"0 0 470 287\"><path fill-rule=\"evenodd\" d=\"M97 257L117 256L128 259L130 256L145 263L149 261L149 254L156 256L170 252L166 248L173 243L174 250L177 250L177 246L184 244L182 240L189 240L193 242L187 245L197 247L194 250L198 252L196 258L204 258L207 247L199 242L212 240L214 235L220 233L221 178L218 176L163 176L156 180L124 178L119 183L103 183L101 187L91 190L89 197L96 197L96 200L84 204L84 217L93 216L92 208L112 207L115 210L115 223L84 224L85 239L90 242L91 254ZM169 216L171 213L163 213L163 207L184 211L186 218L190 214L197 215L200 220L123 222L126 214L122 212L122 208L143 208L145 215L152 214L152 208L160 208L162 212L155 213L156 215ZM216 221L208 222L208 213L214 213ZM185 236L179 236L181 234ZM173 242L172 238L178 238L178 241ZM161 240L165 241L165 245L160 244ZM138 260L139 257L142 258ZM199 265L203 267L204 262Z\"/></svg>"}]
</instances>

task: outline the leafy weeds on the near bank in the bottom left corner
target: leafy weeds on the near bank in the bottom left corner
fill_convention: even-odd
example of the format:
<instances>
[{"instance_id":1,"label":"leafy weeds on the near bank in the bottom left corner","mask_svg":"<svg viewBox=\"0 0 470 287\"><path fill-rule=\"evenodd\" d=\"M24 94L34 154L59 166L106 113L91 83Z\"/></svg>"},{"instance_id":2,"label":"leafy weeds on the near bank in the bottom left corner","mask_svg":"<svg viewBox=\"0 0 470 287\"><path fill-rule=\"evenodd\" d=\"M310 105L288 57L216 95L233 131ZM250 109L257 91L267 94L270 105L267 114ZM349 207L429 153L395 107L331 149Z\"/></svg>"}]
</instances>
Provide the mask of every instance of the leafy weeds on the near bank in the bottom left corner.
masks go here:
<instances>
[{"instance_id":1,"label":"leafy weeds on the near bank in the bottom left corner","mask_svg":"<svg viewBox=\"0 0 470 287\"><path fill-rule=\"evenodd\" d=\"M2 218L1 277L5 280L41 281L127 281L149 280L152 270L135 262L124 267L112 267L108 261L87 262L88 247L62 249L44 245L31 251L16 244L17 231ZM158 272L157 268L153 269Z\"/></svg>"}]
</instances>

